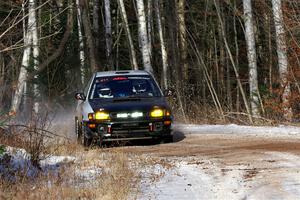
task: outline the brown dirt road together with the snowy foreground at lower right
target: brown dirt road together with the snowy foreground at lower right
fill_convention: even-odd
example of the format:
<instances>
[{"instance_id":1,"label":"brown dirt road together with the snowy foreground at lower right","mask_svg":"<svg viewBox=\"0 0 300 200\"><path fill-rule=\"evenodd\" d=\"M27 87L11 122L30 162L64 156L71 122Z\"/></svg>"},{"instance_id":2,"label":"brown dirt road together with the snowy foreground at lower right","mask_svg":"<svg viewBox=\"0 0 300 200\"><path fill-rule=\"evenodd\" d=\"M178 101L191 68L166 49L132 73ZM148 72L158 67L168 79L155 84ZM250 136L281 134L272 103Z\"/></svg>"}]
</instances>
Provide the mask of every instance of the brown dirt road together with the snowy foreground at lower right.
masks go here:
<instances>
[{"instance_id":1,"label":"brown dirt road together with the snowy foreground at lower right","mask_svg":"<svg viewBox=\"0 0 300 200\"><path fill-rule=\"evenodd\" d=\"M176 132L171 144L120 150L174 166L145 181L140 199L300 198L299 138Z\"/></svg>"}]
</instances>

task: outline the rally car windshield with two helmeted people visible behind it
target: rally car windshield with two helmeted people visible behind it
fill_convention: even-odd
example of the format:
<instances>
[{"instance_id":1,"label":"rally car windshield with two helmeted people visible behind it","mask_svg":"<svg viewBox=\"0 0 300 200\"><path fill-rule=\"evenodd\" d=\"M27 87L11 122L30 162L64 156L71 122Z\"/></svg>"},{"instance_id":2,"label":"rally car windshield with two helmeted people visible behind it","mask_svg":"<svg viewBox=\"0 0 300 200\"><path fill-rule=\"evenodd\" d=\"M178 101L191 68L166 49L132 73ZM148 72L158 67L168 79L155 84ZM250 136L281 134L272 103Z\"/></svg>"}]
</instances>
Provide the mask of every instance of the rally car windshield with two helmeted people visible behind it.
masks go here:
<instances>
[{"instance_id":1,"label":"rally car windshield with two helmeted people visible behind it","mask_svg":"<svg viewBox=\"0 0 300 200\"><path fill-rule=\"evenodd\" d=\"M157 84L150 76L98 77L90 93L90 99L161 96Z\"/></svg>"}]
</instances>

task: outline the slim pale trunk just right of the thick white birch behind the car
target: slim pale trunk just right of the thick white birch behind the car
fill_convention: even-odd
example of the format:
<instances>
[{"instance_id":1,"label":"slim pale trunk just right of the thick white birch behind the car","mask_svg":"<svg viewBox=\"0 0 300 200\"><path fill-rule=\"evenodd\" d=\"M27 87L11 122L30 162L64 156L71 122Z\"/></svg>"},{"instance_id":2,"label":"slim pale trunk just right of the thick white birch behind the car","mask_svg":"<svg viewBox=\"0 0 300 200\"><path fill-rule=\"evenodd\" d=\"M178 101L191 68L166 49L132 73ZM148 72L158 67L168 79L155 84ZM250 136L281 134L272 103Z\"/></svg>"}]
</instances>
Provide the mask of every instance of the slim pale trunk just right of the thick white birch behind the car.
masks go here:
<instances>
[{"instance_id":1,"label":"slim pale trunk just right of the thick white birch behind the car","mask_svg":"<svg viewBox=\"0 0 300 200\"><path fill-rule=\"evenodd\" d=\"M160 16L160 5L159 0L155 0L155 11L157 17L157 28L159 33L160 47L161 47L161 56L163 62L163 74L162 74L162 86L164 89L168 88L168 54L166 51L166 45L163 36L162 24L161 24L161 16Z\"/></svg>"}]
</instances>

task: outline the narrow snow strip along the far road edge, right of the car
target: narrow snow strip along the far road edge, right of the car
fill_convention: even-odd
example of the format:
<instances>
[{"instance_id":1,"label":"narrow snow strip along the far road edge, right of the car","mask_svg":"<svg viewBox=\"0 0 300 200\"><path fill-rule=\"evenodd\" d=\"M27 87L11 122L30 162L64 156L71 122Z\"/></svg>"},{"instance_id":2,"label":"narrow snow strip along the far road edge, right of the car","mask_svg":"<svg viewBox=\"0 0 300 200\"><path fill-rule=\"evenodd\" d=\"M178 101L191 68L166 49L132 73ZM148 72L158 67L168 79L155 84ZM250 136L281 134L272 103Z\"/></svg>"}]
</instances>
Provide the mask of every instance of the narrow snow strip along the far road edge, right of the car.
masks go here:
<instances>
[{"instance_id":1,"label":"narrow snow strip along the far road edge, right of the car","mask_svg":"<svg viewBox=\"0 0 300 200\"><path fill-rule=\"evenodd\" d=\"M174 130L182 131L185 134L251 134L257 136L292 136L300 137L300 127L280 125L274 126L241 126L236 124L228 125L197 125L197 124L176 124Z\"/></svg>"}]
</instances>

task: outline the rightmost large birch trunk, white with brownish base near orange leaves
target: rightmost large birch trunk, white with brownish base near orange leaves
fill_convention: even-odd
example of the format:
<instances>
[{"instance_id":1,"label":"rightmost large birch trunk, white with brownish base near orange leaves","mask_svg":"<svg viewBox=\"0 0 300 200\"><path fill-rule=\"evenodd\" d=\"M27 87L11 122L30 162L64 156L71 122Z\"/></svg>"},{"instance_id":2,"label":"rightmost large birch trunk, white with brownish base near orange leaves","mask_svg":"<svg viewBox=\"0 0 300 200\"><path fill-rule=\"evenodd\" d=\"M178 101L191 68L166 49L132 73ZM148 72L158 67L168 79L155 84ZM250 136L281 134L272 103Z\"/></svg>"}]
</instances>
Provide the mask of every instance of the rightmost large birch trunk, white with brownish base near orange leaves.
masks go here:
<instances>
[{"instance_id":1,"label":"rightmost large birch trunk, white with brownish base near orange leaves","mask_svg":"<svg viewBox=\"0 0 300 200\"><path fill-rule=\"evenodd\" d=\"M292 117L292 110L289 105L289 96L291 93L290 83L288 81L288 58L287 45L285 41L285 31L283 27L283 14L281 8L281 0L272 0L273 17L276 32L278 69L280 77L280 85L283 90L282 103L284 107L284 117L290 120Z\"/></svg>"}]
</instances>

